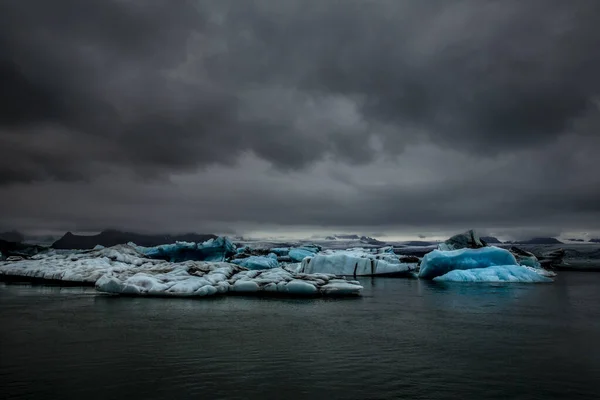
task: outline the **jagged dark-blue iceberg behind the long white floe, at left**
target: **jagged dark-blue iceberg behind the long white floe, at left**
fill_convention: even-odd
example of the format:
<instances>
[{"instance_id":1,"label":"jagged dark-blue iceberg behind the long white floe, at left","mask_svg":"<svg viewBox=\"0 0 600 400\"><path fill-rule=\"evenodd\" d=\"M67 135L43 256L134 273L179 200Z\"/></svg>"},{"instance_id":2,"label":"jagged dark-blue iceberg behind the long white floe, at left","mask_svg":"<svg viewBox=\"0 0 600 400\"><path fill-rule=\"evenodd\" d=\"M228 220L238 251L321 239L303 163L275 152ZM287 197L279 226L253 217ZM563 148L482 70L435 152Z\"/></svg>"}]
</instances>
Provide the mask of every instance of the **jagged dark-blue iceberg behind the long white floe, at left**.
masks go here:
<instances>
[{"instance_id":1,"label":"jagged dark-blue iceberg behind the long white floe, at left","mask_svg":"<svg viewBox=\"0 0 600 400\"><path fill-rule=\"evenodd\" d=\"M176 242L154 247L130 245L148 258L169 262L225 261L236 252L235 245L223 236L204 243Z\"/></svg>"}]
</instances>

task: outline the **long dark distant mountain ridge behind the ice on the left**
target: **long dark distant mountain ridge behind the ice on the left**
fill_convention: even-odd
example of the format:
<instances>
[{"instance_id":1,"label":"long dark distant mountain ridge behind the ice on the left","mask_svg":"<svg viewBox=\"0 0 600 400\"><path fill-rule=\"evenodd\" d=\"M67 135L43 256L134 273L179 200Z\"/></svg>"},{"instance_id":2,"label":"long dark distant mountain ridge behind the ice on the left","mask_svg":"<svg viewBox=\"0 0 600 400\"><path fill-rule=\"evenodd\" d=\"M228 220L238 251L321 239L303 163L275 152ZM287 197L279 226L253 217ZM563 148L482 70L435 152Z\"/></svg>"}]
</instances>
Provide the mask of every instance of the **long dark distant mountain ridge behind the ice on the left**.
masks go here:
<instances>
[{"instance_id":1,"label":"long dark distant mountain ridge behind the ice on the left","mask_svg":"<svg viewBox=\"0 0 600 400\"><path fill-rule=\"evenodd\" d=\"M116 246L133 242L139 246L158 246L166 243L175 242L204 242L214 239L217 236L213 234L187 233L183 235L144 235L132 232L121 232L117 230L106 230L98 235L74 235L71 232L65 233L63 237L52 244L54 249L93 249L97 245L104 247Z\"/></svg>"}]
</instances>

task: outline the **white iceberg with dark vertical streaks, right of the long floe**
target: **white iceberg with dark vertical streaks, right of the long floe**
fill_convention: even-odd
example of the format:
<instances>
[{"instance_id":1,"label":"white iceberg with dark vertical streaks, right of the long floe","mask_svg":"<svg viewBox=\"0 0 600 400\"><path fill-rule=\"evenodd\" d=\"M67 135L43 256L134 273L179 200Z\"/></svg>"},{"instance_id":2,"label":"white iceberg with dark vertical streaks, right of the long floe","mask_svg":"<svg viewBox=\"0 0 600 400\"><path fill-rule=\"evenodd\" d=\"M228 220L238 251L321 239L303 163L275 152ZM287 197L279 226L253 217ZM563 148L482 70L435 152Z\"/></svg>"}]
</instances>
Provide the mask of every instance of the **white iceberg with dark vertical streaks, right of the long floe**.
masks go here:
<instances>
[{"instance_id":1,"label":"white iceberg with dark vertical streaks, right of the long floe","mask_svg":"<svg viewBox=\"0 0 600 400\"><path fill-rule=\"evenodd\" d=\"M410 275L417 263L403 263L391 252L372 253L364 249L325 250L302 260L302 273L338 276Z\"/></svg>"}]
</instances>

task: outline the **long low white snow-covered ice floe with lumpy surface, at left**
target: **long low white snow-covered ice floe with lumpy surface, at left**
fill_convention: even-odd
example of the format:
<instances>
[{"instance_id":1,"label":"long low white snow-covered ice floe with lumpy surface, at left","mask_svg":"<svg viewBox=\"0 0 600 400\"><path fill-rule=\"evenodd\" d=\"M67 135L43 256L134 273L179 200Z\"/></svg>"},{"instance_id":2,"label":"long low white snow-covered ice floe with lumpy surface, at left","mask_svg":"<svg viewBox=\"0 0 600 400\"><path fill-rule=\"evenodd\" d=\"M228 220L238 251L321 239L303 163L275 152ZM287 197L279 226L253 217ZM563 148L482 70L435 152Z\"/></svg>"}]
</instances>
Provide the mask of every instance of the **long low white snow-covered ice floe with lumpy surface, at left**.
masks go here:
<instances>
[{"instance_id":1,"label":"long low white snow-covered ice floe with lumpy surface, at left","mask_svg":"<svg viewBox=\"0 0 600 400\"><path fill-rule=\"evenodd\" d=\"M277 264L274 254L263 258ZM239 261L243 260L248 259ZM227 262L172 263L149 259L128 245L5 261L0 263L0 275L95 283L101 292L140 296L202 297L228 292L332 296L358 295L362 290L355 281L327 274L301 274L281 267L248 270Z\"/></svg>"}]
</instances>

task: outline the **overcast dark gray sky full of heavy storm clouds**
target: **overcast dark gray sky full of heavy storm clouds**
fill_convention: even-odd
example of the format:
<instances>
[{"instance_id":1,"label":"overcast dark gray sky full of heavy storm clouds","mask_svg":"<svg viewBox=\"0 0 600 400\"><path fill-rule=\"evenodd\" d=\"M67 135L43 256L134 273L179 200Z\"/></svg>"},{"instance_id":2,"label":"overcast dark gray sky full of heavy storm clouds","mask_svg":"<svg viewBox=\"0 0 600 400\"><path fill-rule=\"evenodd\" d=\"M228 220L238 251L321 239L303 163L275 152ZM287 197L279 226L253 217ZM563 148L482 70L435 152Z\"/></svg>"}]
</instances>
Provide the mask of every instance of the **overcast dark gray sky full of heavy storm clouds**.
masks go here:
<instances>
[{"instance_id":1,"label":"overcast dark gray sky full of heavy storm clouds","mask_svg":"<svg viewBox=\"0 0 600 400\"><path fill-rule=\"evenodd\" d=\"M0 225L600 231L600 1L4 0Z\"/></svg>"}]
</instances>

